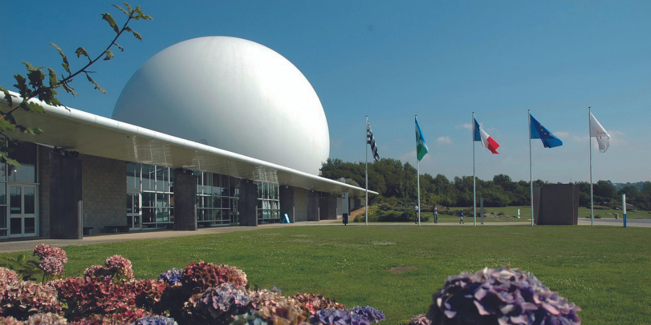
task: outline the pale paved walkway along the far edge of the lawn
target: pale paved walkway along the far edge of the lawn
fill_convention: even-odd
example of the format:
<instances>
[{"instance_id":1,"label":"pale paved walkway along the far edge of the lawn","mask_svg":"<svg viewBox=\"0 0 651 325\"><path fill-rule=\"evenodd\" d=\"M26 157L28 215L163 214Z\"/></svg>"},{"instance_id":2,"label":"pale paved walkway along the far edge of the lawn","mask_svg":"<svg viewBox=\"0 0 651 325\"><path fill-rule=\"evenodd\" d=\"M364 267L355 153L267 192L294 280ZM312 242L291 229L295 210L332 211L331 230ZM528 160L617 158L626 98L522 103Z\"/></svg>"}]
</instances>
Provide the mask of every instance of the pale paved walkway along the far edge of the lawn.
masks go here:
<instances>
[{"instance_id":1,"label":"pale paved walkway along the far edge of the lawn","mask_svg":"<svg viewBox=\"0 0 651 325\"><path fill-rule=\"evenodd\" d=\"M370 226L384 226L385 224L373 223ZM414 226L411 222L406 223L393 223L393 226ZM473 221L465 222L465 224L458 224L457 222L441 222L434 224L432 222L424 222L422 226L460 226L472 227ZM477 222L477 226L528 226L530 222L484 222L481 225ZM603 218L595 219L595 226L623 226L622 219ZM261 224L257 227L212 227L200 228L197 231L174 231L174 230L159 230L159 231L137 231L133 233L116 233L116 234L99 234L83 237L83 239L29 239L18 241L5 241L0 242L0 253L11 252L24 252L34 250L35 246L41 243L54 245L57 247L63 246L82 246L92 244L104 244L107 242L124 242L128 240L143 240L143 239L165 239L173 237L186 237L196 235L208 235L211 233L232 233L235 231L251 231L256 229L280 228L280 227L296 227L296 226L342 226L341 220L322 220L322 221L308 221L299 222L296 224ZM364 226L363 222L352 222L348 226ZM590 219L579 218L579 226L590 226ZM651 227L651 219L629 219L627 220L628 227Z\"/></svg>"}]
</instances>

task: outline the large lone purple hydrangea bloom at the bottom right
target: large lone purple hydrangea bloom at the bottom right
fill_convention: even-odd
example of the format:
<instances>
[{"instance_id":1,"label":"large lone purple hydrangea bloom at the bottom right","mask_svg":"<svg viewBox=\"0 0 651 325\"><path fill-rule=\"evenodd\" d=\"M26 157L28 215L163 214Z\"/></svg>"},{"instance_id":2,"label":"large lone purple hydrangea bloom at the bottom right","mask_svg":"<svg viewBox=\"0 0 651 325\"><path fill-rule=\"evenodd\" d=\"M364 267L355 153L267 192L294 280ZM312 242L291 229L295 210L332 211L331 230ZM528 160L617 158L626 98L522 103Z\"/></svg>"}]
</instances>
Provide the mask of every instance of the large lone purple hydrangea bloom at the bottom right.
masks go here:
<instances>
[{"instance_id":1,"label":"large lone purple hydrangea bloom at the bottom right","mask_svg":"<svg viewBox=\"0 0 651 325\"><path fill-rule=\"evenodd\" d=\"M434 324L581 324L580 307L508 267L450 276L432 300L427 318Z\"/></svg>"}]
</instances>

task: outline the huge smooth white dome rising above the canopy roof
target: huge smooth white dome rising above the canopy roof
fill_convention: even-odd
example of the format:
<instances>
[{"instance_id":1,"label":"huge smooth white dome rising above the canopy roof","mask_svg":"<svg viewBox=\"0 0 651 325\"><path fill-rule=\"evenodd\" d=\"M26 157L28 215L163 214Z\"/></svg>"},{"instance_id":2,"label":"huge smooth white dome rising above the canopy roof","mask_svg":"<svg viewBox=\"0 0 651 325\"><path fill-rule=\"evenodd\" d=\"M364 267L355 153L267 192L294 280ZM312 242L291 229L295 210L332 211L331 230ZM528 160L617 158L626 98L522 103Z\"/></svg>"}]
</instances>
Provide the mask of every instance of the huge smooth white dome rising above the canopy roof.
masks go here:
<instances>
[{"instance_id":1,"label":"huge smooth white dome rising above the canopy roof","mask_svg":"<svg viewBox=\"0 0 651 325\"><path fill-rule=\"evenodd\" d=\"M124 86L113 119L318 175L326 114L291 62L225 36L163 49Z\"/></svg>"}]
</instances>

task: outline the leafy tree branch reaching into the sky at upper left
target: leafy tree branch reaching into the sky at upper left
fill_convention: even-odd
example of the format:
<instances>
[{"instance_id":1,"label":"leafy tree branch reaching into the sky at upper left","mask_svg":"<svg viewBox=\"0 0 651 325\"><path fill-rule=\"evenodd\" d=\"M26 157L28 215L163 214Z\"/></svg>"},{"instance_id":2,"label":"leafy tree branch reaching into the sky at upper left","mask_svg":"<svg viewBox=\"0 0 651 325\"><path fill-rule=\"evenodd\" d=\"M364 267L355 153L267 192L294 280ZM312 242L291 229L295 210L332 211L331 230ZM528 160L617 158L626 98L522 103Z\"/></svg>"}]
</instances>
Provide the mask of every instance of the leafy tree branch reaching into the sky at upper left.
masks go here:
<instances>
[{"instance_id":1,"label":"leafy tree branch reaching into the sky at upper left","mask_svg":"<svg viewBox=\"0 0 651 325\"><path fill-rule=\"evenodd\" d=\"M90 77L90 74L94 72L88 69L100 59L113 59L114 55L113 51L111 51L113 47L117 47L120 49L120 51L124 51L124 47L120 46L120 44L117 44L118 38L120 38L124 32L130 32L137 40L143 40L142 36L137 31L133 31L133 29L129 27L129 23L132 22L132 20L152 19L150 16L147 16L143 13L140 6L132 8L132 6L126 2L123 3L123 5L126 8L123 8L119 5L113 5L115 8L127 16L124 25L122 25L122 28L118 27L118 24L116 23L113 16L111 16L111 14L108 12L102 14L102 19L107 21L109 26L113 29L113 31L115 31L115 37L99 55L92 58L85 48L78 47L76 49L75 54L77 55L77 58L81 58L83 56L88 59L88 62L82 68L79 68L75 72L72 72L70 70L70 62L68 61L68 57L66 57L61 47L59 47L57 44L50 43L50 45L57 49L59 55L61 55L61 66L65 70L66 74L61 73L59 76L53 68L46 66L33 66L29 64L29 62L23 60L23 64L25 64L25 69L27 70L27 77L23 77L23 75L20 73L16 73L14 75L14 79L16 79L16 85L14 85L14 88L18 90L18 96L11 94L7 88L0 86L0 92L3 92L3 94L5 94L4 98L8 103L8 110L6 112L4 110L0 110L0 141L2 142L0 144L0 162L7 162L8 164L12 165L20 165L18 161L9 157L8 144L9 142L14 141L11 136L8 135L9 132L20 131L22 133L29 133L32 135L39 135L43 133L43 131L38 127L25 127L24 125L17 123L16 118L14 118L14 112L19 109L29 112L46 112L46 110L38 102L31 101L31 99L39 99L48 105L61 106L61 102L59 99L57 99L57 90L61 89L64 92L71 94L72 96L77 96L78 94L75 92L71 83L75 77L82 74L86 76L86 79L89 81L89 83L92 83L92 85L95 86L95 89L100 90L100 92L103 94L106 94L106 90L104 90L100 85L98 85L96 81L94 81L94 79L92 79L92 77Z\"/></svg>"}]
</instances>

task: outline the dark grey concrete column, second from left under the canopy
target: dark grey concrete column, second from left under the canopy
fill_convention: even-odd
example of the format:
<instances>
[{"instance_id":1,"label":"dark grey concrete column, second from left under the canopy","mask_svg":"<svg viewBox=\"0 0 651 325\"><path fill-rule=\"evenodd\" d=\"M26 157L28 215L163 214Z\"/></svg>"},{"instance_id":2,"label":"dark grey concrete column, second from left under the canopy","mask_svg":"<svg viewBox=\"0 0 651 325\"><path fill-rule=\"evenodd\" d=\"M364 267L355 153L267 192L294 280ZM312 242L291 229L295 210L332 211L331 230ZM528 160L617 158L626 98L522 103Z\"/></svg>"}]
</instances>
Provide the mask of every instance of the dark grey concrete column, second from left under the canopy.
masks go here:
<instances>
[{"instance_id":1,"label":"dark grey concrete column, second from left under the canopy","mask_svg":"<svg viewBox=\"0 0 651 325\"><path fill-rule=\"evenodd\" d=\"M197 176L174 170L174 230L197 230Z\"/></svg>"}]
</instances>

